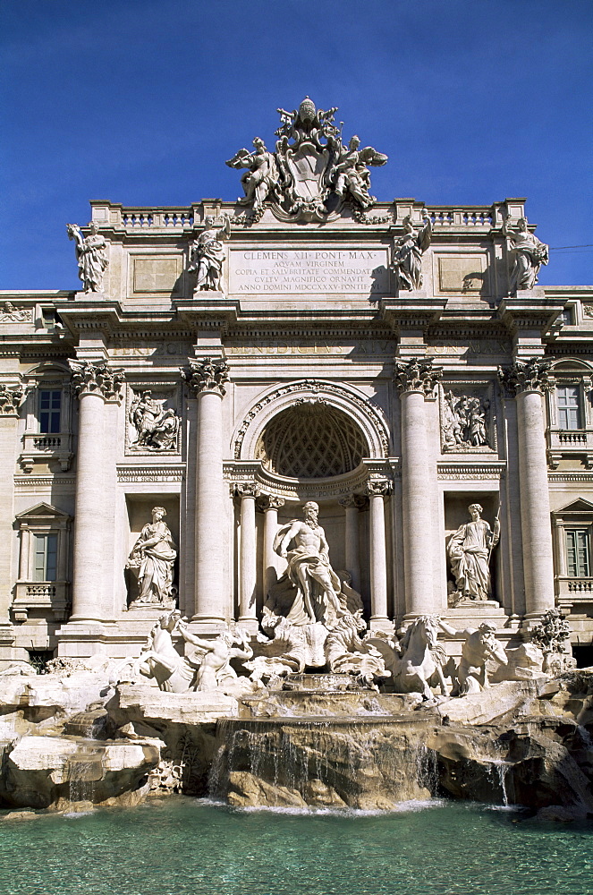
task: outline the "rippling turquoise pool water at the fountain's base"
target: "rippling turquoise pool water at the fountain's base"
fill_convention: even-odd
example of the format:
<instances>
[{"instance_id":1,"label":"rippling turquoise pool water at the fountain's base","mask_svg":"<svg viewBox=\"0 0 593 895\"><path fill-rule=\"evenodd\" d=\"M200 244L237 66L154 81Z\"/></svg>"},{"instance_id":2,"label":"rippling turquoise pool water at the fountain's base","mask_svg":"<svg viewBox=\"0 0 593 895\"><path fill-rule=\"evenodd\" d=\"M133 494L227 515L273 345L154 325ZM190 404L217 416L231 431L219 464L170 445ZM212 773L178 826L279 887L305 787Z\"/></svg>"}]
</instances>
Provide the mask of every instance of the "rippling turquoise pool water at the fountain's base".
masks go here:
<instances>
[{"instance_id":1,"label":"rippling turquoise pool water at the fountain's base","mask_svg":"<svg viewBox=\"0 0 593 895\"><path fill-rule=\"evenodd\" d=\"M173 797L2 823L0 892L586 895L592 834L593 825L462 803L287 814Z\"/></svg>"}]
</instances>

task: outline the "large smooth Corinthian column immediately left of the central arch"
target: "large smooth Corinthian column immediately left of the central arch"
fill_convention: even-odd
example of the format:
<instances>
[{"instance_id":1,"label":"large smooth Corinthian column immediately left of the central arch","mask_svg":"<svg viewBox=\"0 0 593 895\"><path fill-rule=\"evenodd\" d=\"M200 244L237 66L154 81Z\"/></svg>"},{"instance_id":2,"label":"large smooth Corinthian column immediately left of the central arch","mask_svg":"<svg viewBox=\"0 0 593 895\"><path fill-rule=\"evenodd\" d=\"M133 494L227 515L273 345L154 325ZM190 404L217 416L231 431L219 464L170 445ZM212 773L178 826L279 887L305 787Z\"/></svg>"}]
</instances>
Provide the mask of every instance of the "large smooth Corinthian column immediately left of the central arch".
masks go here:
<instances>
[{"instance_id":1,"label":"large smooth Corinthian column immediately left of the central arch","mask_svg":"<svg viewBox=\"0 0 593 895\"><path fill-rule=\"evenodd\" d=\"M198 398L194 621L220 626L226 615L223 575L224 491L222 399L228 364L190 359L185 378Z\"/></svg>"}]
</instances>

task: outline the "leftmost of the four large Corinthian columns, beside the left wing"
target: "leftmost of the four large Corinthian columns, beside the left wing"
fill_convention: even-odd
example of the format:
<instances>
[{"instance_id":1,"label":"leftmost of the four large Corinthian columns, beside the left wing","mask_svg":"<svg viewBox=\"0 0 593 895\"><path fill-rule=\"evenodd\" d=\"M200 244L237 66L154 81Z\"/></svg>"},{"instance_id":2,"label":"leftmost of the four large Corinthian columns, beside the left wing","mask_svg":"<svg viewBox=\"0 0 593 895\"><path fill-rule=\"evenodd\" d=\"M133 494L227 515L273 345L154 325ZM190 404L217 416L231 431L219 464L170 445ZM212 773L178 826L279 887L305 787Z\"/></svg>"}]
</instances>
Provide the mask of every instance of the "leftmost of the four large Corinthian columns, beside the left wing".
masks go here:
<instances>
[{"instance_id":1,"label":"leftmost of the four large Corinthian columns, beside the left wing","mask_svg":"<svg viewBox=\"0 0 593 895\"><path fill-rule=\"evenodd\" d=\"M107 578L101 550L107 510L103 477L104 410L106 401L119 395L123 373L111 370L106 361L70 361L70 367L80 402L70 620L102 621L110 615L113 590L113 580Z\"/></svg>"}]
</instances>

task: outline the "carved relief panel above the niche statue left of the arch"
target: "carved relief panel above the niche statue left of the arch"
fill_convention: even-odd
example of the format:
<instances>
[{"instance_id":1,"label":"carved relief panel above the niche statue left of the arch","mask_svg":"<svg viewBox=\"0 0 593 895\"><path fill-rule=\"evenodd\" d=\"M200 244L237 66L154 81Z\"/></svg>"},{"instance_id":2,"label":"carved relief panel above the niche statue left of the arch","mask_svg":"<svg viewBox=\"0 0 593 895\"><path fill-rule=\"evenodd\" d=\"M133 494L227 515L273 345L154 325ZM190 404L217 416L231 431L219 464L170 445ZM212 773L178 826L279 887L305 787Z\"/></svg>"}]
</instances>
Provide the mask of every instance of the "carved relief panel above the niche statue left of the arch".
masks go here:
<instances>
[{"instance_id":1,"label":"carved relief panel above the niche statue left of the arch","mask_svg":"<svg viewBox=\"0 0 593 895\"><path fill-rule=\"evenodd\" d=\"M180 389L173 383L138 383L127 392L125 453L179 454Z\"/></svg>"}]
</instances>

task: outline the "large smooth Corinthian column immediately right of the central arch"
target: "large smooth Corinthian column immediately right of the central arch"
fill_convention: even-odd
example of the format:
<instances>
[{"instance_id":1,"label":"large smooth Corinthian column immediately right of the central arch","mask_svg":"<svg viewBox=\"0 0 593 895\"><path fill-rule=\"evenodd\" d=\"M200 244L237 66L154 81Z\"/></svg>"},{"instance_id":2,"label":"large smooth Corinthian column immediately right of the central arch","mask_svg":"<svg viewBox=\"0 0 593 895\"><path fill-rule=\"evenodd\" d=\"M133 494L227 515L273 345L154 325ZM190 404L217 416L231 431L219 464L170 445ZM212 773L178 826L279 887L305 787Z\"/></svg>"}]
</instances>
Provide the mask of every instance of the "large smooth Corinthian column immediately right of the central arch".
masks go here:
<instances>
[{"instance_id":1,"label":"large smooth Corinthian column immediately right of the central arch","mask_svg":"<svg viewBox=\"0 0 593 895\"><path fill-rule=\"evenodd\" d=\"M403 574L407 616L434 611L430 474L424 402L442 373L432 360L395 360L394 382L402 402Z\"/></svg>"}]
</instances>

